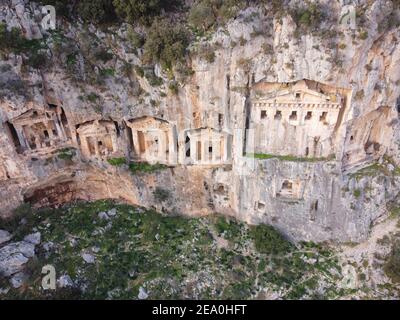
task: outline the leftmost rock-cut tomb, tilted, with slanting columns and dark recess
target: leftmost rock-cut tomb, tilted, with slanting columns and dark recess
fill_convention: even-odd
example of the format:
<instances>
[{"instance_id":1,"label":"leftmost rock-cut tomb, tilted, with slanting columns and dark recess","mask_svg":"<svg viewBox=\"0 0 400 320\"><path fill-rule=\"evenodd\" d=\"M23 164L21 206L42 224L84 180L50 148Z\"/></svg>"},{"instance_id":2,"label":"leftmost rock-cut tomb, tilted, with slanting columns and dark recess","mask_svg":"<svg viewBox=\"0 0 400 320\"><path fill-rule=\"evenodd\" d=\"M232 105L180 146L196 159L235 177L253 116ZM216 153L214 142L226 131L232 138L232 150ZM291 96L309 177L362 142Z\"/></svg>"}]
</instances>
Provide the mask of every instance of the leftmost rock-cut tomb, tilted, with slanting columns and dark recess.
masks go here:
<instances>
[{"instance_id":1,"label":"leftmost rock-cut tomb, tilted, with slanting columns and dark recess","mask_svg":"<svg viewBox=\"0 0 400 320\"><path fill-rule=\"evenodd\" d=\"M30 109L7 121L6 130L17 152L46 152L67 143L69 128L66 119L62 120L62 113L62 108Z\"/></svg>"}]
</instances>

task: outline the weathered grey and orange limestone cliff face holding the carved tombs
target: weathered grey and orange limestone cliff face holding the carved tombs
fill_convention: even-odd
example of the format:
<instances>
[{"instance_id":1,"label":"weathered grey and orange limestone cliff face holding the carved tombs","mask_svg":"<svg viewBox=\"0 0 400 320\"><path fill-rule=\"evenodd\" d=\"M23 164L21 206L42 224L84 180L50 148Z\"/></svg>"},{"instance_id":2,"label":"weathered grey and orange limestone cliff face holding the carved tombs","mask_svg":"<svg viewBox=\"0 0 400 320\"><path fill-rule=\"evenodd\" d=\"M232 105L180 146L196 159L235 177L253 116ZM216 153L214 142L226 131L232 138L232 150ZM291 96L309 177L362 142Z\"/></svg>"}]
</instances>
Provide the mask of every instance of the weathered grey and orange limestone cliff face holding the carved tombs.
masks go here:
<instances>
[{"instance_id":1,"label":"weathered grey and orange limestone cliff face holding the carved tombs","mask_svg":"<svg viewBox=\"0 0 400 320\"><path fill-rule=\"evenodd\" d=\"M391 1L359 2L362 36L338 23L336 2L323 2L330 10L323 23L336 31L328 35L298 34L289 15L268 7L242 11L192 45L213 48L215 60L193 54L194 73L174 95L159 66L161 86L127 69L142 66L125 25L103 32L63 22L47 34L38 5L3 1L0 21L45 39L53 63L38 71L21 55L1 57L1 215L24 200L120 198L169 213L270 223L297 240L367 238L399 191L400 30L381 27ZM96 59L104 52L109 58ZM46 120L24 122L36 116ZM165 135L136 121L145 116ZM167 157L154 149L160 139ZM70 159L59 156L65 148L75 149ZM132 176L109 165L111 157L169 168ZM168 199L156 196L157 187Z\"/></svg>"}]
</instances>

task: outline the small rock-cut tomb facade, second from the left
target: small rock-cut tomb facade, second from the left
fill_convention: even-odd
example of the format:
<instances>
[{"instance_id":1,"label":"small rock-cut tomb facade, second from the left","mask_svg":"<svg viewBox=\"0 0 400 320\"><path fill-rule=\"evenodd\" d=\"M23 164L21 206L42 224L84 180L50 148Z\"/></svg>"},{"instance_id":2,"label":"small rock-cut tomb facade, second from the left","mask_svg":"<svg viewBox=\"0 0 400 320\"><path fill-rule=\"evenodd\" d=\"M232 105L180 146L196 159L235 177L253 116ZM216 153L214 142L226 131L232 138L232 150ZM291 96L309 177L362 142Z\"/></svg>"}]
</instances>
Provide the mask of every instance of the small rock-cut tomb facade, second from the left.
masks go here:
<instances>
[{"instance_id":1,"label":"small rock-cut tomb facade, second from the left","mask_svg":"<svg viewBox=\"0 0 400 320\"><path fill-rule=\"evenodd\" d=\"M117 128L113 121L94 120L77 128L82 155L107 158L118 153Z\"/></svg>"}]
</instances>

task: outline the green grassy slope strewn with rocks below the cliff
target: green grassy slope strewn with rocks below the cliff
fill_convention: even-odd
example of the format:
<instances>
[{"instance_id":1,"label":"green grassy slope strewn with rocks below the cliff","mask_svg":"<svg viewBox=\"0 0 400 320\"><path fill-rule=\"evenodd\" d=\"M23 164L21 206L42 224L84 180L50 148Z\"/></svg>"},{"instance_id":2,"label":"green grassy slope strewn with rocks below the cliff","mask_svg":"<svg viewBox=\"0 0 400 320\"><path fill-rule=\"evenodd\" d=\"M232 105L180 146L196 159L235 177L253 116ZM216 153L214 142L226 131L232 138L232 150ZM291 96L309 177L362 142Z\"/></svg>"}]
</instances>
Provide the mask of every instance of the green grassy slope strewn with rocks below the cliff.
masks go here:
<instances>
[{"instance_id":1,"label":"green grassy slope strewn with rocks below the cliff","mask_svg":"<svg viewBox=\"0 0 400 320\"><path fill-rule=\"evenodd\" d=\"M98 213L117 209L109 220ZM26 208L25 208L26 209ZM2 298L284 299L336 298L341 268L334 252L293 245L269 226L249 227L220 216L165 217L112 201L31 211L27 223L3 225L22 239L40 231L42 244L27 266L29 282ZM43 244L53 243L46 251ZM88 264L82 253L95 256ZM75 288L43 291L41 268L55 266ZM1 296L0 296L1 297Z\"/></svg>"}]
</instances>

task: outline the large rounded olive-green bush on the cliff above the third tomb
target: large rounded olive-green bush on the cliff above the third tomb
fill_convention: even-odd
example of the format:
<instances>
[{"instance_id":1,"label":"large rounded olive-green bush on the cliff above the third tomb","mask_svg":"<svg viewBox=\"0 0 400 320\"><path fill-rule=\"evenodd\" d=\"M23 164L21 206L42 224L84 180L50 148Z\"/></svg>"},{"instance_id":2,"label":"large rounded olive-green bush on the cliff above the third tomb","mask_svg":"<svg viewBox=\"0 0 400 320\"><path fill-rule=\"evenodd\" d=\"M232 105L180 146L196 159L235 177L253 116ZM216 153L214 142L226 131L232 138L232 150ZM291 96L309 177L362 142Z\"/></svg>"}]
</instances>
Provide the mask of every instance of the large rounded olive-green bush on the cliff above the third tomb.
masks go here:
<instances>
[{"instance_id":1,"label":"large rounded olive-green bush on the cliff above the third tomb","mask_svg":"<svg viewBox=\"0 0 400 320\"><path fill-rule=\"evenodd\" d=\"M151 25L144 45L144 62L160 63L171 70L184 62L189 45L189 33L184 26L168 19L156 19Z\"/></svg>"}]
</instances>

